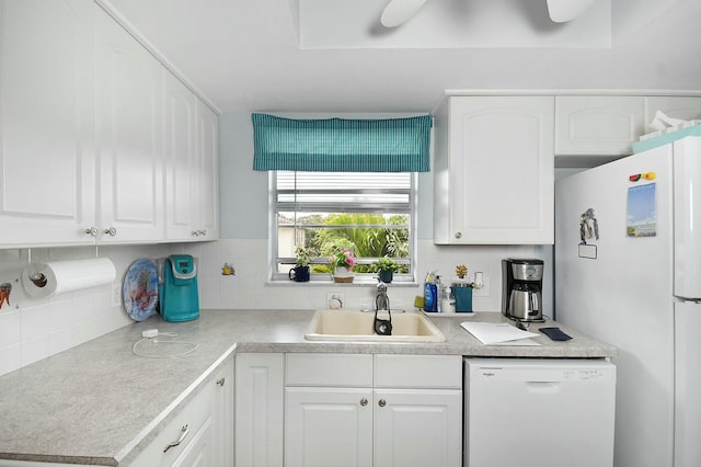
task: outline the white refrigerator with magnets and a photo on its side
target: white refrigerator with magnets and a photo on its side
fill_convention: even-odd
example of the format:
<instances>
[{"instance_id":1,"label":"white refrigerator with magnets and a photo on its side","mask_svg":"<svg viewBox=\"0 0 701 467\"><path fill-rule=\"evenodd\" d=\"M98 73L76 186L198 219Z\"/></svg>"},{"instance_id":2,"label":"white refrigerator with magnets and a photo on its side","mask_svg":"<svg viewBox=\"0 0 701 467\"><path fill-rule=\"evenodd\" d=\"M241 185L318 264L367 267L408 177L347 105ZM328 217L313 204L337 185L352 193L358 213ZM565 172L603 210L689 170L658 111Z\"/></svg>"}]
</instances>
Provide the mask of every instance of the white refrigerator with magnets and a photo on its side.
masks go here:
<instances>
[{"instance_id":1,"label":"white refrigerator with magnets and a photo on its side","mask_svg":"<svg viewBox=\"0 0 701 467\"><path fill-rule=\"evenodd\" d=\"M555 183L555 318L618 348L614 466L701 466L701 126Z\"/></svg>"}]
</instances>

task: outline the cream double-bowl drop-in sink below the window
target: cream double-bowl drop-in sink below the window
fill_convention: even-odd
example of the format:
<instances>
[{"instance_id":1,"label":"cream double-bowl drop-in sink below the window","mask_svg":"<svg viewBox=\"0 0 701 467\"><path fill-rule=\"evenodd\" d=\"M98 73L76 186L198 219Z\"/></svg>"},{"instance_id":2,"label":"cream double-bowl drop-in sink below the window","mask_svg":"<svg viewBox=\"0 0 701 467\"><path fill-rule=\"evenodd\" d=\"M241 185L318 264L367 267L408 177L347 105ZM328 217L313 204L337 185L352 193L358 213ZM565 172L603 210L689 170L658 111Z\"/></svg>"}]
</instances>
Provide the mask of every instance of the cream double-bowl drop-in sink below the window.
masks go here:
<instances>
[{"instance_id":1,"label":"cream double-bowl drop-in sink below the window","mask_svg":"<svg viewBox=\"0 0 701 467\"><path fill-rule=\"evenodd\" d=\"M388 319L386 311L378 318ZM422 311L392 314L392 335L375 333L375 312L356 310L318 310L304 339L310 341L363 342L445 342L446 337Z\"/></svg>"}]
</instances>

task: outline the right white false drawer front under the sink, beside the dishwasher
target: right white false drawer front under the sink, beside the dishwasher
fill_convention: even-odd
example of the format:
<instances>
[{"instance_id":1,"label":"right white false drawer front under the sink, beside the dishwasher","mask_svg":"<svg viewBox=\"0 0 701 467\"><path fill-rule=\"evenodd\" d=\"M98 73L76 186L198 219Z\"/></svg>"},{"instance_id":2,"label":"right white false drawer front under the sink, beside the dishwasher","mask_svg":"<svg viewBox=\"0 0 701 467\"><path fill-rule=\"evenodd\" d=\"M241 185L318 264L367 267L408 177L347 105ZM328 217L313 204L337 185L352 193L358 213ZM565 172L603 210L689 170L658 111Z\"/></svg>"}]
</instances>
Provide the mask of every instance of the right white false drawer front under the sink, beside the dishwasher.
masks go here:
<instances>
[{"instance_id":1,"label":"right white false drawer front under the sink, beside the dishwasher","mask_svg":"<svg viewBox=\"0 0 701 467\"><path fill-rule=\"evenodd\" d=\"M462 387L460 355L375 355L377 388Z\"/></svg>"}]
</instances>

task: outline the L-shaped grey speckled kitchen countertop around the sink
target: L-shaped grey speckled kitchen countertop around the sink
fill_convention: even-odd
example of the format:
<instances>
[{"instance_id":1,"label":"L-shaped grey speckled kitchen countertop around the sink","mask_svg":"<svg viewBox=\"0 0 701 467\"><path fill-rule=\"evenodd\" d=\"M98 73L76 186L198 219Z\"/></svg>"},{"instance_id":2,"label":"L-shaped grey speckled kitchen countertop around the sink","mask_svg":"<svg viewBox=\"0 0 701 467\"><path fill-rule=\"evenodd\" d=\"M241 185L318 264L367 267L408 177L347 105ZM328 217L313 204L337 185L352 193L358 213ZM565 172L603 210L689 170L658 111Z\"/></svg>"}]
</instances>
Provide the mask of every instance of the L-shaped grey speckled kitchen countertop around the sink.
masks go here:
<instances>
[{"instance_id":1,"label":"L-shaped grey speckled kitchen countertop around the sink","mask_svg":"<svg viewBox=\"0 0 701 467\"><path fill-rule=\"evenodd\" d=\"M428 316L446 335L444 343L307 341L313 310L203 310L183 323L151 317L0 376L0 459L89 465L127 465L156 436L173 409L187 402L232 352L327 352L466 355L494 357L601 358L611 345L575 330L539 346L483 345L462 321L508 321L498 312ZM548 321L532 323L531 331ZM141 331L176 332L196 351L170 358L137 356ZM148 354L150 342L139 345ZM183 344L185 345L185 344ZM187 349L186 345L183 349ZM156 355L156 354L154 354ZM1 462L0 462L1 464Z\"/></svg>"}]
</instances>

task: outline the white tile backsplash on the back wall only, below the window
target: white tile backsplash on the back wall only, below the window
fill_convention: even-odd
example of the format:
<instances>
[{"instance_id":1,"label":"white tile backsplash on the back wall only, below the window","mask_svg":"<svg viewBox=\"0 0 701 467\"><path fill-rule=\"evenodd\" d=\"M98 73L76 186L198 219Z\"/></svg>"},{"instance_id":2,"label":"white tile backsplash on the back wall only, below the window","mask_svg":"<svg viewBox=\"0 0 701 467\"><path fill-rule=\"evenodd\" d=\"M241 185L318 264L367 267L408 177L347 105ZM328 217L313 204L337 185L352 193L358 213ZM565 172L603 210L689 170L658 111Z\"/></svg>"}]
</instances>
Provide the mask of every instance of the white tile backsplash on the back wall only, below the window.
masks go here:
<instances>
[{"instance_id":1,"label":"white tile backsplash on the back wall only, below the window","mask_svg":"<svg viewBox=\"0 0 701 467\"><path fill-rule=\"evenodd\" d=\"M542 249L542 251L541 251ZM429 270L437 270L446 281L455 277L455 267L467 264L470 273L481 271L489 284L487 296L475 296L474 308L481 311L501 310L502 258L543 258L550 247L538 246L467 246L439 247L430 240L418 242L417 284L392 284L389 296L392 308L412 309L414 297L422 295L422 282ZM186 247L186 252L199 261L199 296L203 308L220 309L317 309L326 308L332 292L343 292L346 308L369 307L376 295L370 285L310 284L267 281L266 240L219 240ZM547 259L547 258L543 258ZM221 267L230 263L235 275L222 275Z\"/></svg>"}]
</instances>

